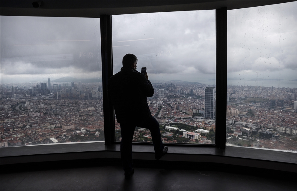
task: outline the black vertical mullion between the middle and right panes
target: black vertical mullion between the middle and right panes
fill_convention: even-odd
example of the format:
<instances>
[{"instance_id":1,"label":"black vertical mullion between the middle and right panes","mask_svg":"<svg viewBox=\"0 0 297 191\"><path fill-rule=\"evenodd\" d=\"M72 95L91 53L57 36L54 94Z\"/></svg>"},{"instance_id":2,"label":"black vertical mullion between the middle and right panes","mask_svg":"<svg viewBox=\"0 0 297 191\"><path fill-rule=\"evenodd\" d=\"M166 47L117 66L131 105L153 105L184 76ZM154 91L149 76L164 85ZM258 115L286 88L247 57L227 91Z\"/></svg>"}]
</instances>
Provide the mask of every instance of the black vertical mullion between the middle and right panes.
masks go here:
<instances>
[{"instance_id":1,"label":"black vertical mullion between the middle and right panes","mask_svg":"<svg viewBox=\"0 0 297 191\"><path fill-rule=\"evenodd\" d=\"M216 33L216 118L215 144L226 148L227 102L227 7L215 10Z\"/></svg>"}]
</instances>

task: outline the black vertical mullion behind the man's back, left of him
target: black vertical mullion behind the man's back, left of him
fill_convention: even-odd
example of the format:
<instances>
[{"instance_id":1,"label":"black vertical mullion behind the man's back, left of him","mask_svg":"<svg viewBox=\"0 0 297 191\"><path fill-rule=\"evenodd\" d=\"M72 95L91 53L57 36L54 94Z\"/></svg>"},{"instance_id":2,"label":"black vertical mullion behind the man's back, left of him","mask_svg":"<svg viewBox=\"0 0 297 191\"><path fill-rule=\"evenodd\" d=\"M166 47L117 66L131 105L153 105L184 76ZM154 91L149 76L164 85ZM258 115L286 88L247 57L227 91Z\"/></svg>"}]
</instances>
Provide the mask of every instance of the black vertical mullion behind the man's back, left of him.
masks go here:
<instances>
[{"instance_id":1,"label":"black vertical mullion behind the man's back, left of him","mask_svg":"<svg viewBox=\"0 0 297 191\"><path fill-rule=\"evenodd\" d=\"M111 16L100 15L101 33L101 59L102 59L102 89L103 89L103 114L104 114L104 141L105 145L113 144L114 133L114 108L107 96L108 78L113 75L112 68L112 35Z\"/></svg>"}]
</instances>

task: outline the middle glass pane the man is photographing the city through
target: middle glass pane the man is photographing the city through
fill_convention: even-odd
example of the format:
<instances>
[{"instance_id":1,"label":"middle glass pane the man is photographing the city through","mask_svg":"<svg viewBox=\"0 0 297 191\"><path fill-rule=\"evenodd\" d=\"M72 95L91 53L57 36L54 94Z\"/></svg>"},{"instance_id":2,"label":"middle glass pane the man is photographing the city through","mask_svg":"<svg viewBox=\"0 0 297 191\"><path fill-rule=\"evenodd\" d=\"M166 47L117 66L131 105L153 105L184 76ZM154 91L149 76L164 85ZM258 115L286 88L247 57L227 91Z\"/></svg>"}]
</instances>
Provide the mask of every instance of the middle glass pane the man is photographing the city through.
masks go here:
<instances>
[{"instance_id":1,"label":"middle glass pane the man is photographing the city through","mask_svg":"<svg viewBox=\"0 0 297 191\"><path fill-rule=\"evenodd\" d=\"M162 141L215 144L215 10L115 15L112 39L114 74L127 53L147 68ZM115 131L121 140L117 121ZM136 127L133 141L151 142L150 131Z\"/></svg>"}]
</instances>

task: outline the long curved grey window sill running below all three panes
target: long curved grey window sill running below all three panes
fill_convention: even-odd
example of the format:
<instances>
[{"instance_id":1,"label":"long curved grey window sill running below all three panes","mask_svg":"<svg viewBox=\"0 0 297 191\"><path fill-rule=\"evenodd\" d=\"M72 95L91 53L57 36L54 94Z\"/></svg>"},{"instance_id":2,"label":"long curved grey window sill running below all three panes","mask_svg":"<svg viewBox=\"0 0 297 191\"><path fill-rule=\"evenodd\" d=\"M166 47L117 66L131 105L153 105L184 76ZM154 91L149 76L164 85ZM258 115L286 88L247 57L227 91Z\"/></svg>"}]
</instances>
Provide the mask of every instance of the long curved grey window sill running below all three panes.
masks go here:
<instances>
[{"instance_id":1,"label":"long curved grey window sill running below all three panes","mask_svg":"<svg viewBox=\"0 0 297 191\"><path fill-rule=\"evenodd\" d=\"M152 145L133 145L133 159L155 160ZM0 149L0 164L46 162L75 159L120 158L120 144L104 142L49 144ZM163 161L213 162L281 171L297 172L297 153L226 146L186 147L170 145Z\"/></svg>"}]
</instances>

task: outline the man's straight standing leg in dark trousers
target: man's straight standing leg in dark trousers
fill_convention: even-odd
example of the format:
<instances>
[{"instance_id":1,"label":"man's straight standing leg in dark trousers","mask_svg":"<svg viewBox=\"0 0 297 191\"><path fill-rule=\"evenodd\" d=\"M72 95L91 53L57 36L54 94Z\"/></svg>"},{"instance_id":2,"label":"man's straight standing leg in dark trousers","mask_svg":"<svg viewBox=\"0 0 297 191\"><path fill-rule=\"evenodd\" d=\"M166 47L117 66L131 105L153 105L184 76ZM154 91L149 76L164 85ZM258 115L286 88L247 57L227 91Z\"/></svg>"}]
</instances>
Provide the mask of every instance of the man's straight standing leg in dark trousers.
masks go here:
<instances>
[{"instance_id":1,"label":"man's straight standing leg in dark trousers","mask_svg":"<svg viewBox=\"0 0 297 191\"><path fill-rule=\"evenodd\" d=\"M135 131L135 125L131 123L120 123L122 141L121 141L121 161L125 172L132 171L132 139Z\"/></svg>"}]
</instances>

